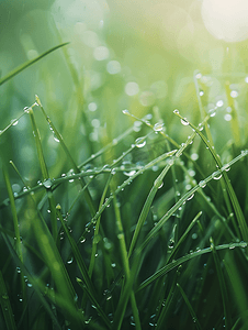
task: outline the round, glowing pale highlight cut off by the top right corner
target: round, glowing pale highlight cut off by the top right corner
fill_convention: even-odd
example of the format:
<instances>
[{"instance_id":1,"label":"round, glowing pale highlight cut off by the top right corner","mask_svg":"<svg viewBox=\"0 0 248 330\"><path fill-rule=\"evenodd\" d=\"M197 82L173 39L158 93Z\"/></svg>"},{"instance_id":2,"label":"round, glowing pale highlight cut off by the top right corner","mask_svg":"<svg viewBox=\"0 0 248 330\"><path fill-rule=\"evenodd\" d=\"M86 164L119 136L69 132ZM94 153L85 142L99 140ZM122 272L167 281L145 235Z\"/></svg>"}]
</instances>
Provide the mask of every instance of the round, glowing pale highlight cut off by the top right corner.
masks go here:
<instances>
[{"instance_id":1,"label":"round, glowing pale highlight cut off by the top right corner","mask_svg":"<svg viewBox=\"0 0 248 330\"><path fill-rule=\"evenodd\" d=\"M248 38L248 0L203 0L202 18L216 38L226 42Z\"/></svg>"}]
</instances>

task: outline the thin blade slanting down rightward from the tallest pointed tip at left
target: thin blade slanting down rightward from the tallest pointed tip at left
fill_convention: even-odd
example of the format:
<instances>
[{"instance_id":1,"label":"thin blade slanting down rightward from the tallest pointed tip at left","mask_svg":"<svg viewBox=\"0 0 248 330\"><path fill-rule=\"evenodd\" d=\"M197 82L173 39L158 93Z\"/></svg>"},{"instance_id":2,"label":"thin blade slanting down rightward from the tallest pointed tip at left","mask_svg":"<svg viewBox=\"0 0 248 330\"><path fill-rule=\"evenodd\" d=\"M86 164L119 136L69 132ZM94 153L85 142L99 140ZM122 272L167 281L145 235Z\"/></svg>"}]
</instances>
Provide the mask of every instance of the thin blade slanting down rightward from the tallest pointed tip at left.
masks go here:
<instances>
[{"instance_id":1,"label":"thin blade slanting down rightward from the tallest pointed tip at left","mask_svg":"<svg viewBox=\"0 0 248 330\"><path fill-rule=\"evenodd\" d=\"M52 131L54 132L55 138L60 142L64 152L65 152L66 155L68 156L68 158L69 158L69 161L70 161L70 163L71 163L71 165L72 165L72 168L74 168L75 173L79 174L79 173L80 173L80 169L78 168L77 164L75 163L75 161L74 161L74 158L72 158L72 156L71 156L71 154L70 154L70 152L69 152L69 150L68 150L68 147L66 146L66 144L65 144L65 142L64 142L64 139L63 139L61 134L57 131L57 129L56 129L55 125L53 124L52 120L50 120L49 117L46 114L46 112L45 112L45 110L44 110L44 108L43 108L43 106L42 106L42 102L41 102L41 100L40 100L40 98L38 98L37 95L35 96L35 98L36 98L36 102L37 102L38 107L42 109L42 112L43 112L43 114L44 114L44 117L45 117L45 119L46 119L46 121L47 121L49 128L50 128ZM81 183L82 187L86 185L86 183L83 182L83 179L81 179L80 183ZM93 200L92 200L92 198L91 198L91 195L90 195L88 188L84 190L84 197L86 197L86 201L87 201L87 204L88 204L88 206L89 206L91 216L93 217L93 216L95 215L95 207L94 207Z\"/></svg>"}]
</instances>

